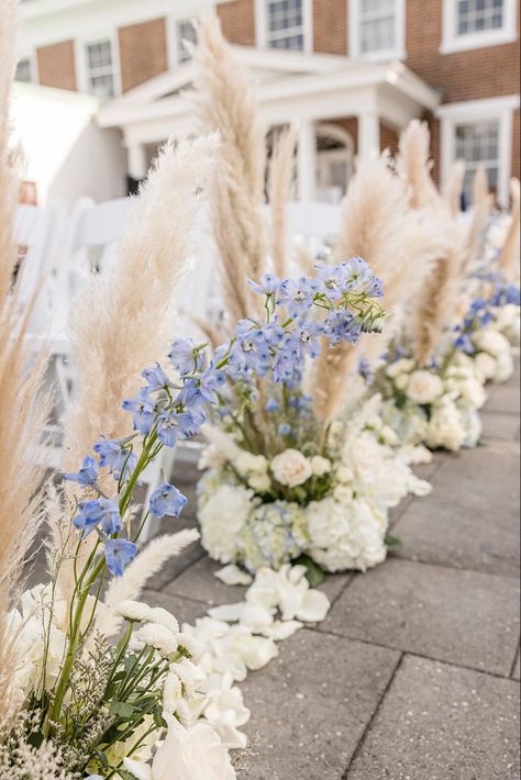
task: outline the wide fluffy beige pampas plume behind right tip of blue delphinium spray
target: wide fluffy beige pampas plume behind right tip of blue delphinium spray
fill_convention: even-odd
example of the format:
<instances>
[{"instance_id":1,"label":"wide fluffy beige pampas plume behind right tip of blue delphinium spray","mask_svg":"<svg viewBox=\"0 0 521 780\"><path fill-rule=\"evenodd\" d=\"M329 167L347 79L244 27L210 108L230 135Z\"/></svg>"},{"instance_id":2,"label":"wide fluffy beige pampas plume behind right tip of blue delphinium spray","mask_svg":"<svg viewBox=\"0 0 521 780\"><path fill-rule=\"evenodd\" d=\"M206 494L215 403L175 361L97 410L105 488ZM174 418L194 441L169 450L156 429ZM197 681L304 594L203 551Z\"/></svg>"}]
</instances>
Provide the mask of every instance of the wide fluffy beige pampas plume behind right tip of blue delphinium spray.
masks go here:
<instances>
[{"instance_id":1,"label":"wide fluffy beige pampas plume behind right tip of blue delphinium spray","mask_svg":"<svg viewBox=\"0 0 521 780\"><path fill-rule=\"evenodd\" d=\"M333 420L348 399L359 358L373 365L385 353L399 324L399 309L418 294L432 261L446 248L444 232L432 214L412 211L406 183L393 176L387 158L363 163L352 179L343 205L337 260L358 255L384 281L384 307L390 316L379 335L359 344L340 344L315 364L313 401L317 415Z\"/></svg>"}]
</instances>

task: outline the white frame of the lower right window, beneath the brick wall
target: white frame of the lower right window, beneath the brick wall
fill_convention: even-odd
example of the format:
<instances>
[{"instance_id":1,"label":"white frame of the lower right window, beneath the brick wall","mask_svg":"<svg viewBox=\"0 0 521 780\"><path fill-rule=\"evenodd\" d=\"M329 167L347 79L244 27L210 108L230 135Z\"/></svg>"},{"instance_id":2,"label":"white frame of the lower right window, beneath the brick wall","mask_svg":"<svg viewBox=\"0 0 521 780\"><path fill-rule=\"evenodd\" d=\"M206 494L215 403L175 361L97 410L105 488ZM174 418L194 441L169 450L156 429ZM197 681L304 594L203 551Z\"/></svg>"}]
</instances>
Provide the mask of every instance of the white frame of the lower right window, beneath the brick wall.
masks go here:
<instances>
[{"instance_id":1,"label":"white frame of the lower right window, beneath the brick wall","mask_svg":"<svg viewBox=\"0 0 521 780\"><path fill-rule=\"evenodd\" d=\"M508 207L512 168L512 116L519 109L519 94L487 100L466 100L447 103L436 110L441 120L441 178L447 181L456 154L456 127L483 121L499 121L498 202Z\"/></svg>"}]
</instances>

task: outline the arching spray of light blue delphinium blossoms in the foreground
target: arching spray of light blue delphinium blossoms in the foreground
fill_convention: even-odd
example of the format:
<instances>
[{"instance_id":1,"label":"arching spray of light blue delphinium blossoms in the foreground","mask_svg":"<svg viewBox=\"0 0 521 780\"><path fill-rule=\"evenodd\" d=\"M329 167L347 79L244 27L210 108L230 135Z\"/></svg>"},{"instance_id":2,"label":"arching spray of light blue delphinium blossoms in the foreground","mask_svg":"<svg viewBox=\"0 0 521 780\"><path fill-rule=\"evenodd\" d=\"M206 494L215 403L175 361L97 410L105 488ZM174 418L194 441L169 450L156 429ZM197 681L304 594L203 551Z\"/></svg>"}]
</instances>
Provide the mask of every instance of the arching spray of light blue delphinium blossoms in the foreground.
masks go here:
<instances>
[{"instance_id":1,"label":"arching spray of light blue delphinium blossoms in the foreground","mask_svg":"<svg viewBox=\"0 0 521 780\"><path fill-rule=\"evenodd\" d=\"M231 341L210 356L207 344L177 338L168 355L177 379L156 364L142 372L145 385L137 395L123 402L136 433L123 439L101 437L93 446L98 457L87 456L77 473L65 475L98 494L78 504L73 523L82 536L96 530L112 575L121 575L137 553L134 542L118 537L135 482L163 446L175 447L179 439L200 432L206 408L218 402L226 377L253 386L257 376L270 371L276 385L291 388L299 385L304 359L320 354L322 337L332 345L341 341L353 344L362 333L381 327L384 310L375 300L383 296L381 281L358 257L337 266L318 265L313 279L279 280L266 274L258 283L250 285L265 297L266 322L242 320ZM299 403L298 411L303 412L306 402ZM287 435L284 425L280 434ZM143 437L140 456L134 452L138 435ZM117 480L118 498L103 493L100 468ZM186 501L166 482L152 494L146 516L178 517Z\"/></svg>"}]
</instances>

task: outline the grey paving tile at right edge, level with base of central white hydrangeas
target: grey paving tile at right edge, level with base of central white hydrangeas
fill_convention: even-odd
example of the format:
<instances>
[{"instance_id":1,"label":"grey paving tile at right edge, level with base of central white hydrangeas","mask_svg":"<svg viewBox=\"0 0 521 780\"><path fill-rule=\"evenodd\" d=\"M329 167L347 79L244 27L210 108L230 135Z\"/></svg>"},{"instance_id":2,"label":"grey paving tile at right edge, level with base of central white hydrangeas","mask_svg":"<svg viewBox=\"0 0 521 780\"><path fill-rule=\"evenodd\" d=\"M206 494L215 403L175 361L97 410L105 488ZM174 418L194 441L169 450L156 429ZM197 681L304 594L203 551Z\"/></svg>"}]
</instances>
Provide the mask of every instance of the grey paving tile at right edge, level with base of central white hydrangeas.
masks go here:
<instances>
[{"instance_id":1,"label":"grey paving tile at right edge, level with base of central white hydrangeas","mask_svg":"<svg viewBox=\"0 0 521 780\"><path fill-rule=\"evenodd\" d=\"M413 501L392 533L402 543L399 557L519 577L519 517L513 513L446 504L436 492Z\"/></svg>"}]
</instances>

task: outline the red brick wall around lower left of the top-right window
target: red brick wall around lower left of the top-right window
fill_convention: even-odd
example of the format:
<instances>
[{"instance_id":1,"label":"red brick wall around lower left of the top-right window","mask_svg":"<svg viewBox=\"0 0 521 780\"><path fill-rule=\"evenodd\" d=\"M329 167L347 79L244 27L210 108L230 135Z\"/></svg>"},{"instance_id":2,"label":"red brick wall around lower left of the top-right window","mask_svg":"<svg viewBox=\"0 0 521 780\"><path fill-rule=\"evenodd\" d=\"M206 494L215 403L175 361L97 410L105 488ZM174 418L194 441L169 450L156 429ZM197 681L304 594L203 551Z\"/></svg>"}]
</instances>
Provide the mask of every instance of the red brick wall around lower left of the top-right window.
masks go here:
<instances>
[{"instance_id":1,"label":"red brick wall around lower left of the top-right window","mask_svg":"<svg viewBox=\"0 0 521 780\"><path fill-rule=\"evenodd\" d=\"M440 54L441 42L442 1L407 0L406 65L443 90L443 102L518 92L519 37L516 43L445 55Z\"/></svg>"}]
</instances>

